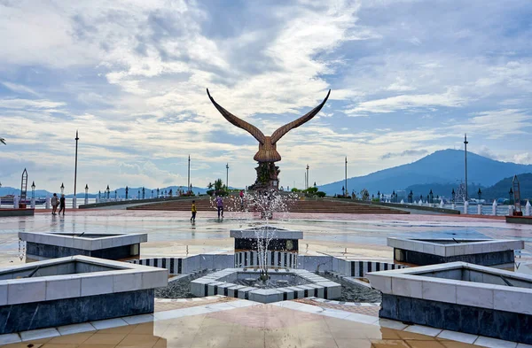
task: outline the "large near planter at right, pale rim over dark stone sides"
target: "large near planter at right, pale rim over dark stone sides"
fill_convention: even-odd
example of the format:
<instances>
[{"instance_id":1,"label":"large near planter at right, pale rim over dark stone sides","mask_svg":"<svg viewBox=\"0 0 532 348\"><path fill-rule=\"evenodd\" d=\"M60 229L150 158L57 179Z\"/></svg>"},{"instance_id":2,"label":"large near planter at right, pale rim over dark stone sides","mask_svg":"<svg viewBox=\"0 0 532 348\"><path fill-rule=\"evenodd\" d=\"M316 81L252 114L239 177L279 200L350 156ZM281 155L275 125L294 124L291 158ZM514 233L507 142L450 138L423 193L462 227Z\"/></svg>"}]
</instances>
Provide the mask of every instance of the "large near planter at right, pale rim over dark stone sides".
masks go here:
<instances>
[{"instance_id":1,"label":"large near planter at right, pale rim over dark stone sides","mask_svg":"<svg viewBox=\"0 0 532 348\"><path fill-rule=\"evenodd\" d=\"M532 344L532 276L465 262L366 275L379 317Z\"/></svg>"}]
</instances>

